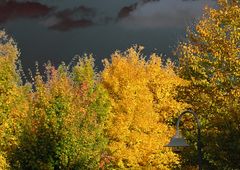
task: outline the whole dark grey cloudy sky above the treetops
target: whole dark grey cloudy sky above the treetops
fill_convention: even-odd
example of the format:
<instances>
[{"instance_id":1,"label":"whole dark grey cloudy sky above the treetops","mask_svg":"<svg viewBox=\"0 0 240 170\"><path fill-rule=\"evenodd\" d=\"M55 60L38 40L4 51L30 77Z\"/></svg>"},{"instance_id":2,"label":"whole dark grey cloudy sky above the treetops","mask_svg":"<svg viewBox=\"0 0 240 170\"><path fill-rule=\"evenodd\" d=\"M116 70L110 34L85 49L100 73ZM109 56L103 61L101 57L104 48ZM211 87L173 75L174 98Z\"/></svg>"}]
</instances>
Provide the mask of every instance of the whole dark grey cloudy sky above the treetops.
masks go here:
<instances>
[{"instance_id":1,"label":"whole dark grey cloudy sky above the treetops","mask_svg":"<svg viewBox=\"0 0 240 170\"><path fill-rule=\"evenodd\" d=\"M0 0L0 29L13 36L24 70L69 63L92 53L96 67L115 50L137 44L172 58L186 28L214 0Z\"/></svg>"}]
</instances>

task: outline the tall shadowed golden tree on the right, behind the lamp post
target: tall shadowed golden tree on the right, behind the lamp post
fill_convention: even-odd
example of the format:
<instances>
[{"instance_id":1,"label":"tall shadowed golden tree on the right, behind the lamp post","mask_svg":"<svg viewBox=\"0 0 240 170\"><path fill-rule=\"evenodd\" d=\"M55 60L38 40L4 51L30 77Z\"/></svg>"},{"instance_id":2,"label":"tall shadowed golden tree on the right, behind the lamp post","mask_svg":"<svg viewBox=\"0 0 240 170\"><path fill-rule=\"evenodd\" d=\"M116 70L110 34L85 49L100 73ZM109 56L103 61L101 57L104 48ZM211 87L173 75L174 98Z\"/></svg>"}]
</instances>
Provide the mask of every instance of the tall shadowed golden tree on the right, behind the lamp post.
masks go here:
<instances>
[{"instance_id":1,"label":"tall shadowed golden tree on the right, behind the lamp post","mask_svg":"<svg viewBox=\"0 0 240 170\"><path fill-rule=\"evenodd\" d=\"M236 0L218 4L205 9L179 45L179 73L191 82L180 98L202 118L207 169L239 169L240 6Z\"/></svg>"}]
</instances>

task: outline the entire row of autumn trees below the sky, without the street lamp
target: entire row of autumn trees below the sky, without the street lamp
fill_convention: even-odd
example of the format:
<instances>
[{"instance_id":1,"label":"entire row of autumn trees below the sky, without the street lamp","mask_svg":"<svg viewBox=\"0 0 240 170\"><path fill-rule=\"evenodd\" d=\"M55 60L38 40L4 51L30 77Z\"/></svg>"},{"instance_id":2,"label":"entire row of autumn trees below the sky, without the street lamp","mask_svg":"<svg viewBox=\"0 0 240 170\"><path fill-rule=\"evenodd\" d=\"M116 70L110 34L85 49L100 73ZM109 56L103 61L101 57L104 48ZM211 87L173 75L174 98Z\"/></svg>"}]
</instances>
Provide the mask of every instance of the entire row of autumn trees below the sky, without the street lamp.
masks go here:
<instances>
[{"instance_id":1,"label":"entire row of autumn trees below the sky, without the street lamp","mask_svg":"<svg viewBox=\"0 0 240 170\"><path fill-rule=\"evenodd\" d=\"M26 83L20 50L0 31L0 169L193 169L191 117L181 124L191 147L164 147L186 108L200 118L204 169L240 169L239 5L206 7L176 49L178 65L134 46L101 72L85 55Z\"/></svg>"}]
</instances>

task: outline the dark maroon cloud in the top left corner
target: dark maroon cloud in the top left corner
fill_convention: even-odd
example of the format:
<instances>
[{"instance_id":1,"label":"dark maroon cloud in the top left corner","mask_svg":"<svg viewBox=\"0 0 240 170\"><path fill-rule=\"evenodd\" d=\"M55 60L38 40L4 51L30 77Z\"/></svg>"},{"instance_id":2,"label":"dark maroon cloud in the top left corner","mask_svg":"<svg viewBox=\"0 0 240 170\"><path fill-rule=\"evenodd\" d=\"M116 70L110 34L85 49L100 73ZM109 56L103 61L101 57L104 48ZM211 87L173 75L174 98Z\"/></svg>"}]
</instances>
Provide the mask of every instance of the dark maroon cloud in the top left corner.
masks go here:
<instances>
[{"instance_id":1,"label":"dark maroon cloud in the top left corner","mask_svg":"<svg viewBox=\"0 0 240 170\"><path fill-rule=\"evenodd\" d=\"M53 8L38 2L7 1L0 3L0 23L16 18L35 18L46 16Z\"/></svg>"}]
</instances>

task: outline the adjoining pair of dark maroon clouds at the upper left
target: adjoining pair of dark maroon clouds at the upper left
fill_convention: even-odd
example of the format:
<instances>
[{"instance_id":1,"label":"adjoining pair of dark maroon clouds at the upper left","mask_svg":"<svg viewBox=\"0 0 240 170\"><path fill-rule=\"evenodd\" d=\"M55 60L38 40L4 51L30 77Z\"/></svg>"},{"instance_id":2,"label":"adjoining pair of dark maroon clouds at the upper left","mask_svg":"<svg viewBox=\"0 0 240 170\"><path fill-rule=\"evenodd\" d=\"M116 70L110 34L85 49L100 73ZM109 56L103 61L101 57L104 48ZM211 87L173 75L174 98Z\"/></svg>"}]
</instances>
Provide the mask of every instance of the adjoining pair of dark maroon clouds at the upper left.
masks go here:
<instances>
[{"instance_id":1,"label":"adjoining pair of dark maroon clouds at the upper left","mask_svg":"<svg viewBox=\"0 0 240 170\"><path fill-rule=\"evenodd\" d=\"M92 8L79 6L73 9L57 11L39 2L0 1L0 23L17 18L39 18L49 29L68 31L74 28L92 26L96 12Z\"/></svg>"}]
</instances>

